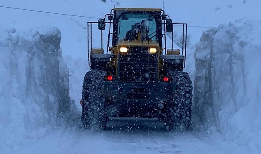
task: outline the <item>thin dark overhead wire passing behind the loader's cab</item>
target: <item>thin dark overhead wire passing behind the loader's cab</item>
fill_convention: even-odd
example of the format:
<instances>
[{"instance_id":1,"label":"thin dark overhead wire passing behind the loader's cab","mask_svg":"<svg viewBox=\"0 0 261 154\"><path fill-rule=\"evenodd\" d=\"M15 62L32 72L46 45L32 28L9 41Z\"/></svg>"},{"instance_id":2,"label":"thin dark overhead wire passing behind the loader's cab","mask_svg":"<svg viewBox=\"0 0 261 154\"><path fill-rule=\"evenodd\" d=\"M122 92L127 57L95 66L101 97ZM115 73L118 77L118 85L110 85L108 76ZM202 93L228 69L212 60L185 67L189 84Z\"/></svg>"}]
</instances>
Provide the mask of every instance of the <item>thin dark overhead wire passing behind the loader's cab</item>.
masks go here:
<instances>
[{"instance_id":1,"label":"thin dark overhead wire passing behind the loader's cab","mask_svg":"<svg viewBox=\"0 0 261 154\"><path fill-rule=\"evenodd\" d=\"M74 14L66 14L66 13L56 13L56 12L48 12L48 11L39 11L39 10L23 9L23 8L18 8L18 7L7 7L7 6L1 6L1 5L0 5L0 7L8 8L8 9L15 9L15 10L31 11L31 12L57 14L57 15L63 15L63 16L75 16L75 17L82 17L82 18L101 19L101 18L98 18L98 17L90 17L90 16L82 16L82 15L74 15ZM187 27L193 27L193 28L217 28L217 27L189 26L189 25Z\"/></svg>"}]
</instances>

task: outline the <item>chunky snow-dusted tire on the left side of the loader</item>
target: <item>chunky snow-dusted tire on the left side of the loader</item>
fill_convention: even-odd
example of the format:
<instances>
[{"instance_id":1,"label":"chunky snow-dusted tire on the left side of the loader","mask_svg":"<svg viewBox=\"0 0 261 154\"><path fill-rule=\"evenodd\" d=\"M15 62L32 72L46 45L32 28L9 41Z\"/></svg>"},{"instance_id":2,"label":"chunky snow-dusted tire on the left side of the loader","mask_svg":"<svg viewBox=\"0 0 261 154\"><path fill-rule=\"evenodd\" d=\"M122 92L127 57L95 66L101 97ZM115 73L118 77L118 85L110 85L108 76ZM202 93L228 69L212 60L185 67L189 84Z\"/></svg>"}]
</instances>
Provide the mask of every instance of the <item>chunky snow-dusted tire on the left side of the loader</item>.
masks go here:
<instances>
[{"instance_id":1,"label":"chunky snow-dusted tire on the left side of the loader","mask_svg":"<svg viewBox=\"0 0 261 154\"><path fill-rule=\"evenodd\" d=\"M101 70L90 70L85 74L82 85L82 124L87 128L107 127L105 100L101 95L101 82L106 73Z\"/></svg>"}]
</instances>

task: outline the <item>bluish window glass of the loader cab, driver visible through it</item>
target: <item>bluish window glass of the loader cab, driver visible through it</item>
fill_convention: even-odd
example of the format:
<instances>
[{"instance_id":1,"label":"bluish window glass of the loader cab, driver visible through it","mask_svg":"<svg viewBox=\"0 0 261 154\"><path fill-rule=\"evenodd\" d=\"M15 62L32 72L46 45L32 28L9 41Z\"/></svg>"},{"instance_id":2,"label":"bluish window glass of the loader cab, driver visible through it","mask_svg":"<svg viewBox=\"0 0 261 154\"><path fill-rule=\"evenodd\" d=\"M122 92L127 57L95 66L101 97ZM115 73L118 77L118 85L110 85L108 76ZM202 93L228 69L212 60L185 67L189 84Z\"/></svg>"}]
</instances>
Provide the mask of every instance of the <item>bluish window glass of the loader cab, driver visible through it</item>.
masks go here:
<instances>
[{"instance_id":1,"label":"bluish window glass of the loader cab, driver visible through it","mask_svg":"<svg viewBox=\"0 0 261 154\"><path fill-rule=\"evenodd\" d=\"M120 17L118 41L137 39L137 33L139 32L144 32L143 40L156 41L156 22L152 15L147 13L125 13Z\"/></svg>"}]
</instances>

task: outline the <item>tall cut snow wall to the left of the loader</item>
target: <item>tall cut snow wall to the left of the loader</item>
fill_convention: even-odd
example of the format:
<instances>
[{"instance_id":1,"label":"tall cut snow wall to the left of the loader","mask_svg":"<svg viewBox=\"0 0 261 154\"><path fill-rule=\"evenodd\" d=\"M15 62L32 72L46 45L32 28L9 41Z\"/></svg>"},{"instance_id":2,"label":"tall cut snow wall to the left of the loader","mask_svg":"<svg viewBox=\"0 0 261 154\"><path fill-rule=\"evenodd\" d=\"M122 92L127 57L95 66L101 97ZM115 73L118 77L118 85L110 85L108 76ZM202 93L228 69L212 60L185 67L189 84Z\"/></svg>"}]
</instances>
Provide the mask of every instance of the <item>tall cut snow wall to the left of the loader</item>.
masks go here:
<instances>
[{"instance_id":1,"label":"tall cut snow wall to the left of the loader","mask_svg":"<svg viewBox=\"0 0 261 154\"><path fill-rule=\"evenodd\" d=\"M69 110L60 30L0 31L0 153L45 135Z\"/></svg>"}]
</instances>

